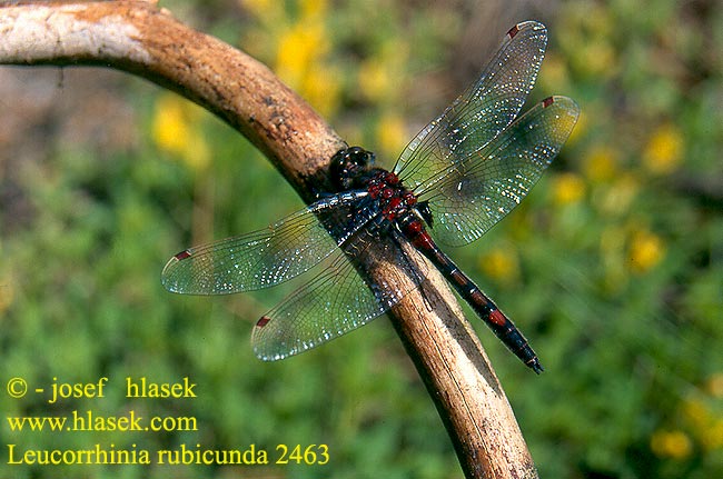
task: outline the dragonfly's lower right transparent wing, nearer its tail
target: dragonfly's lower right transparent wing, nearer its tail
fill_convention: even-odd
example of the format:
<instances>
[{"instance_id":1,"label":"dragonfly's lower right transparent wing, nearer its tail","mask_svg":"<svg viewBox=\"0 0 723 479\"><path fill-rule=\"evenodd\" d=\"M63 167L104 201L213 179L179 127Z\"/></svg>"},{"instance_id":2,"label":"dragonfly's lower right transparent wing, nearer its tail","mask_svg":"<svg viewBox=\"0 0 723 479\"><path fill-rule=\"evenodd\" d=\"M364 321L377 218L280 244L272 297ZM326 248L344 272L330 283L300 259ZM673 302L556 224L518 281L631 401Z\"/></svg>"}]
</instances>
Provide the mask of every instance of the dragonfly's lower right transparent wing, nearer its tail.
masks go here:
<instances>
[{"instance_id":1,"label":"dragonfly's lower right transparent wing, nearer its tail","mask_svg":"<svg viewBox=\"0 0 723 479\"><path fill-rule=\"evenodd\" d=\"M570 98L549 97L444 171L433 189L420 193L429 201L435 237L466 245L504 218L557 156L578 114Z\"/></svg>"}]
</instances>

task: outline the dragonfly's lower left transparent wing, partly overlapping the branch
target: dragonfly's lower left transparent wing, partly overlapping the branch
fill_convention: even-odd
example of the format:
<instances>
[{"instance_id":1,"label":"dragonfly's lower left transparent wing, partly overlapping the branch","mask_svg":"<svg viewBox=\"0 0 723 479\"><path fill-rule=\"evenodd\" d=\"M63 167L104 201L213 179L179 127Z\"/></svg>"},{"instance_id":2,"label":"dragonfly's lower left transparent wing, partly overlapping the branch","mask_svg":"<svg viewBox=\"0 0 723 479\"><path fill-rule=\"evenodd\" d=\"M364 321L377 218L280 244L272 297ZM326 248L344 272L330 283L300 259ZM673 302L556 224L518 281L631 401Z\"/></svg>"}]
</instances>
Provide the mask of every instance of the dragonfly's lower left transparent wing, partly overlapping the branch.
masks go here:
<instances>
[{"instance_id":1,"label":"dragonfly's lower left transparent wing, partly overlapping the branch","mask_svg":"<svg viewBox=\"0 0 723 479\"><path fill-rule=\"evenodd\" d=\"M370 246L374 245L374 248ZM259 359L274 361L315 348L387 311L426 277L393 240L380 241L365 228L330 256L329 266L257 322L251 345ZM416 251L407 251L418 255ZM359 270L355 265L364 265ZM369 271L395 266L383 283ZM406 281L400 280L406 278Z\"/></svg>"}]
</instances>

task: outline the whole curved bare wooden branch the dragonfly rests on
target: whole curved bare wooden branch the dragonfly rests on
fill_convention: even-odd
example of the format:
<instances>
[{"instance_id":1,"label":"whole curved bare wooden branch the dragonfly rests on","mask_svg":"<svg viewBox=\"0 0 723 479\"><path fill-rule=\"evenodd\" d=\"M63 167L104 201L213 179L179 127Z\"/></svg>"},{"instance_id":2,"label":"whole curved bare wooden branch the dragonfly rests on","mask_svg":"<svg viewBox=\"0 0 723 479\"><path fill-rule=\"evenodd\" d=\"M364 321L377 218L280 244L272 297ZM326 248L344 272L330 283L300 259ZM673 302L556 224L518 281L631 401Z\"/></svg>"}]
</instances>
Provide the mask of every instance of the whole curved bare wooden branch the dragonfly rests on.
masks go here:
<instances>
[{"instance_id":1,"label":"whole curved bare wooden branch the dragonfly rests on","mask_svg":"<svg viewBox=\"0 0 723 479\"><path fill-rule=\"evenodd\" d=\"M327 162L345 147L268 68L153 2L0 3L0 63L103 66L177 91L246 136L307 202L326 189ZM430 270L424 296L409 293L390 317L465 475L537 477L476 335L444 279Z\"/></svg>"}]
</instances>

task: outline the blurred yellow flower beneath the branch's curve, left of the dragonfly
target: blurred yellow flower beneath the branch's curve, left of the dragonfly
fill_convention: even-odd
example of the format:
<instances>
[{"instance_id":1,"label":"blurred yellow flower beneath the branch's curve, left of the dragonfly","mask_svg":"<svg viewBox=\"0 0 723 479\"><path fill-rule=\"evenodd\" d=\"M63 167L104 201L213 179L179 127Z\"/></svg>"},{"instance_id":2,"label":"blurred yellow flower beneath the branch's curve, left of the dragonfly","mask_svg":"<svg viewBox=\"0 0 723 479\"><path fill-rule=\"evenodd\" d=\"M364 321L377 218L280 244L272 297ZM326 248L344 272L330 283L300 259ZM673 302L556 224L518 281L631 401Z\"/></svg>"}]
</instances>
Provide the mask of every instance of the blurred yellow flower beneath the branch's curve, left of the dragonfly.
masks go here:
<instances>
[{"instance_id":1,"label":"blurred yellow flower beneath the branch's curve, left of the dragonfly","mask_svg":"<svg viewBox=\"0 0 723 479\"><path fill-rule=\"evenodd\" d=\"M210 163L210 148L198 128L200 114L200 107L176 94L164 94L156 102L151 126L156 144L196 170Z\"/></svg>"}]
</instances>

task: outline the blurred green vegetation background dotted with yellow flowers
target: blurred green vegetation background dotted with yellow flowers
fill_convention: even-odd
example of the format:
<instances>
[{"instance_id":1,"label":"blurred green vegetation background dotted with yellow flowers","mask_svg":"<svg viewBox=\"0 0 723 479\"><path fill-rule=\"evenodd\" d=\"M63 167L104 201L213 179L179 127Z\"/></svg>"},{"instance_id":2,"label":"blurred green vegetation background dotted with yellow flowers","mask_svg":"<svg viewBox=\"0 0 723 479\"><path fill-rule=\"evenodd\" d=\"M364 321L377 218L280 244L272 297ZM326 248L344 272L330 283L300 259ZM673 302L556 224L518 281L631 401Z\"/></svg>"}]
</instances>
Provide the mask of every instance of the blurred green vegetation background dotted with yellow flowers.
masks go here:
<instances>
[{"instance_id":1,"label":"blurred green vegetation background dotted with yellow flowers","mask_svg":"<svg viewBox=\"0 0 723 479\"><path fill-rule=\"evenodd\" d=\"M525 331L546 372L531 375L469 318L541 477L723 477L720 2L514 12L456 1L162 3L265 61L386 164L514 22L544 21L551 43L533 99L566 94L583 116L524 203L452 256ZM31 389L53 378L110 385L107 398L52 406L0 395L3 416L137 410L196 417L199 430L17 433L3 420L3 448L256 445L274 457L279 443L326 443L330 461L59 470L3 456L0 476L460 477L386 319L263 363L249 348L252 320L288 289L195 298L161 288L160 269L178 250L300 207L259 153L137 79L82 69L38 83L34 71L0 71L27 79L17 94L8 82L0 89L0 378ZM127 399L126 376L188 377L198 398Z\"/></svg>"}]
</instances>

